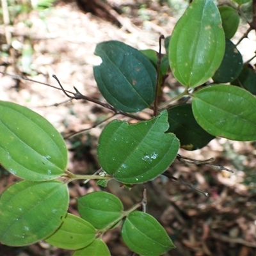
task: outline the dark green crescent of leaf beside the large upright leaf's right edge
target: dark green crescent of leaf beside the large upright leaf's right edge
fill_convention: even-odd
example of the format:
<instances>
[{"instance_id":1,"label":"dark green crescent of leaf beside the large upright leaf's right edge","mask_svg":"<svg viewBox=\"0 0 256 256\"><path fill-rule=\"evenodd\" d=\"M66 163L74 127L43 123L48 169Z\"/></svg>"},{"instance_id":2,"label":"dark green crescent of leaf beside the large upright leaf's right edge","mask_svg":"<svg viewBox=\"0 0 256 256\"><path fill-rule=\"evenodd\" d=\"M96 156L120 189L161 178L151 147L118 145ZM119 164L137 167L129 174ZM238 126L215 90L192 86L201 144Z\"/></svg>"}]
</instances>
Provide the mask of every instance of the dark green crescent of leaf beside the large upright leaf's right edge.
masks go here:
<instances>
[{"instance_id":1,"label":"dark green crescent of leaf beside the large upright leaf's right edge","mask_svg":"<svg viewBox=\"0 0 256 256\"><path fill-rule=\"evenodd\" d=\"M215 83L229 83L236 79L243 68L243 57L229 39L226 39L225 54L221 65L212 77Z\"/></svg>"}]
</instances>

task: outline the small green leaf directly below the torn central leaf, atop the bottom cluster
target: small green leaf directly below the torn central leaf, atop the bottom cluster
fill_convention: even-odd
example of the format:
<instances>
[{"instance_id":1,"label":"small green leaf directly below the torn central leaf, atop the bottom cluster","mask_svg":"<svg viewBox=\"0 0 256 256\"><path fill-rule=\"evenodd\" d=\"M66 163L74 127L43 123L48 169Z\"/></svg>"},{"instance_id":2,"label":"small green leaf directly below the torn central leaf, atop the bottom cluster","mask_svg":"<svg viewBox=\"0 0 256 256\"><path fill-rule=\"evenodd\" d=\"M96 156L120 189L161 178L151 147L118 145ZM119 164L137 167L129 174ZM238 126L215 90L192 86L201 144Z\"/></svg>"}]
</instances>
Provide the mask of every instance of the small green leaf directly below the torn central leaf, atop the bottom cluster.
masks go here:
<instances>
[{"instance_id":1,"label":"small green leaf directly below the torn central leaf, atop the bottom cluster","mask_svg":"<svg viewBox=\"0 0 256 256\"><path fill-rule=\"evenodd\" d=\"M93 227L103 229L122 216L122 202L114 195L97 191L77 199L81 217Z\"/></svg>"}]
</instances>

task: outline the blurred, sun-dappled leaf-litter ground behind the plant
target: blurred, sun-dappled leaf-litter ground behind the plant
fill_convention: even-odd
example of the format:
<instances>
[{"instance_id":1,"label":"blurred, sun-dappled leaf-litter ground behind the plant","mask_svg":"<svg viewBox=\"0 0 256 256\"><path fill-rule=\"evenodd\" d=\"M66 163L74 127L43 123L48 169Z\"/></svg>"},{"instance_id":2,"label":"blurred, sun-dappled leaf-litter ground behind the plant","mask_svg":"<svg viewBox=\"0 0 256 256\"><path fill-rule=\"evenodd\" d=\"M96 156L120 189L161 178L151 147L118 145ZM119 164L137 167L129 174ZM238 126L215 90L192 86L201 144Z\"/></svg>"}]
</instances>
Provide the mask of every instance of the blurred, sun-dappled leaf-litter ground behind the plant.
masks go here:
<instances>
[{"instance_id":1,"label":"blurred, sun-dappled leaf-litter ground behind the plant","mask_svg":"<svg viewBox=\"0 0 256 256\"><path fill-rule=\"evenodd\" d=\"M2 65L0 70L18 76L21 76L22 72L35 74L33 79L36 81L58 86L51 77L56 74L65 89L72 91L72 87L76 86L84 95L104 102L92 72L93 63L97 61L93 55L96 44L106 40L120 40L138 49L157 50L159 35L170 35L177 20L177 13L172 13L166 3L160 6L157 2L152 2L150 6L139 5L140 8L136 1L127 1L124 6L120 3L116 6L115 3L111 4L124 12L122 17L129 18L122 20L123 26L116 21L113 24L91 13L83 13L76 3L58 3L54 8L42 12L22 13L13 20L11 26L17 47L14 60L10 56L2 56L1 63L10 65ZM180 4L181 10L184 10L186 3ZM26 25L28 22L32 25L31 28ZM242 33L243 31L237 33L237 37ZM0 39L2 44L6 43L4 26L0 26ZM33 47L31 57L22 59L19 56L19 44L27 45L28 49ZM246 56L244 60L250 58L244 51L246 48L248 49L242 49ZM172 79L169 83L172 83ZM177 93L177 84L169 85L166 92L172 95ZM17 102L45 116L63 136L88 129L95 122L111 116L108 109L102 109L90 102L66 102L56 107L54 104L67 100L61 91L8 76L0 77L0 95L1 100ZM147 113L140 115L148 116ZM93 173L99 168L96 157L97 138L102 127L103 125L99 125L67 140L70 149L68 168L71 172ZM166 255L256 255L256 189L253 174L255 143L215 139L202 150L180 150L180 154L201 160L215 157L214 163L222 164L235 173L231 175L213 170L209 166L186 166L175 161L170 169L173 176L193 182L197 188L207 191L208 197L174 180L159 178L146 184L147 211L161 221L177 246L176 250ZM15 177L1 171L0 191L14 180ZM86 186L79 182L70 184L69 211L77 214L76 198L98 189L93 181ZM119 184L115 182L108 186L108 190L118 195L126 207L140 200L142 189L141 185L126 191L120 189ZM132 255L120 239L119 228L108 232L104 240L111 250L111 255ZM44 242L25 248L0 245L0 252L6 256L60 256L72 253L52 248Z\"/></svg>"}]
</instances>

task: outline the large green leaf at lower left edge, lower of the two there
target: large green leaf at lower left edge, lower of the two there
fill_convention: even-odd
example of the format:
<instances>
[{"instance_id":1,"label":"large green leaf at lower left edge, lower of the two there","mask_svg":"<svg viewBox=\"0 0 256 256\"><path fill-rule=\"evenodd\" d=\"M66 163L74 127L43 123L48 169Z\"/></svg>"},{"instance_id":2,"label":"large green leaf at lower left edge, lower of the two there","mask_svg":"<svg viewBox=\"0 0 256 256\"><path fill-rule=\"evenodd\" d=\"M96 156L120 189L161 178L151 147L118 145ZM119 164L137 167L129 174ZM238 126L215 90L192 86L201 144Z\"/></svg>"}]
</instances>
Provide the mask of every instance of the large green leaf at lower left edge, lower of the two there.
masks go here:
<instances>
[{"instance_id":1,"label":"large green leaf at lower left edge, lower of the two there","mask_svg":"<svg viewBox=\"0 0 256 256\"><path fill-rule=\"evenodd\" d=\"M50 236L68 209L68 188L57 180L23 180L0 198L0 242L24 246Z\"/></svg>"}]
</instances>

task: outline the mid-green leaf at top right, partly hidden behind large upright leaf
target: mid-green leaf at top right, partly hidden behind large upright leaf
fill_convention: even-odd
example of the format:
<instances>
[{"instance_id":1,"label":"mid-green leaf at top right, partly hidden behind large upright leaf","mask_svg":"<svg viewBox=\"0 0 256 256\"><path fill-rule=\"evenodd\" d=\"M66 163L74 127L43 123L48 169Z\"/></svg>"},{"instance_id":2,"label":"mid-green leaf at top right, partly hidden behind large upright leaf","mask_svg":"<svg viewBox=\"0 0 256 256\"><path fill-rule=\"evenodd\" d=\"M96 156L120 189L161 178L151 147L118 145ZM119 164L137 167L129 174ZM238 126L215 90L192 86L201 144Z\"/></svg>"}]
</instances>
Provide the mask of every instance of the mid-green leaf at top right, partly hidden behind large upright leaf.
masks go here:
<instances>
[{"instance_id":1,"label":"mid-green leaf at top right, partly hidden behind large upright leaf","mask_svg":"<svg viewBox=\"0 0 256 256\"><path fill-rule=\"evenodd\" d=\"M220 12L225 36L226 38L230 39L235 35L239 26L239 14L237 10L230 6L220 6L218 9Z\"/></svg>"}]
</instances>

